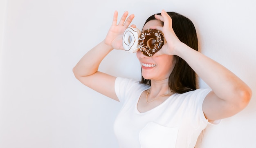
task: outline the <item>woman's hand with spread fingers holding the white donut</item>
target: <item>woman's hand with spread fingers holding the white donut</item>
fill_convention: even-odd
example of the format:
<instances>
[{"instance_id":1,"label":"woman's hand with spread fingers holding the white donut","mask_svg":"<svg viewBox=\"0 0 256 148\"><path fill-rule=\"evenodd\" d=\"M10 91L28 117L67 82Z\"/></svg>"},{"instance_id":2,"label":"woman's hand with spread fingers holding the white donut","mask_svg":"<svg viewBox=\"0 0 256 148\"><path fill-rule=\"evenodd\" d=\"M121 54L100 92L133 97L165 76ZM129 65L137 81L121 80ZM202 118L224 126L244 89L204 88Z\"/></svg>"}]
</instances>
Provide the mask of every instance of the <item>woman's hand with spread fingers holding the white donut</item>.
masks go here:
<instances>
[{"instance_id":1,"label":"woman's hand with spread fingers holding the white donut","mask_svg":"<svg viewBox=\"0 0 256 148\"><path fill-rule=\"evenodd\" d=\"M115 11L112 25L105 38L105 44L111 46L113 49L124 49L122 44L123 34L124 34L124 31L127 29L127 27L129 27L130 23L132 22L134 18L134 14L131 14L127 18L128 11L126 11L123 14L119 24L117 24L117 15L118 13L117 11ZM136 26L132 25L132 27L136 27Z\"/></svg>"}]
</instances>

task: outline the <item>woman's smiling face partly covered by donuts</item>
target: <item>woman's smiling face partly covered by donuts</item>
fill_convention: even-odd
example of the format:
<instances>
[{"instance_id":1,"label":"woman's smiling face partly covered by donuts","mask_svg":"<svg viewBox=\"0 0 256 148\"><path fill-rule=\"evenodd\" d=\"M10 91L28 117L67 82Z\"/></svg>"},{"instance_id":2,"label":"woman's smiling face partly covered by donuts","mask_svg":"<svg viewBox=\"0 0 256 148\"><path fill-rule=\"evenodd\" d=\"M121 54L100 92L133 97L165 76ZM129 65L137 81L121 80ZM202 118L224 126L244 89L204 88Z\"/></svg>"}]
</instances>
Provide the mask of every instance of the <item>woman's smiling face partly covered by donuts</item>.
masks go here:
<instances>
[{"instance_id":1,"label":"woman's smiling face partly covered by donuts","mask_svg":"<svg viewBox=\"0 0 256 148\"><path fill-rule=\"evenodd\" d=\"M162 26L162 23L159 20L150 20L145 24L143 30L146 30L151 26ZM137 58L141 64L142 76L144 79L161 81L168 79L169 75L173 71L173 55L153 55L148 57L138 50Z\"/></svg>"}]
</instances>

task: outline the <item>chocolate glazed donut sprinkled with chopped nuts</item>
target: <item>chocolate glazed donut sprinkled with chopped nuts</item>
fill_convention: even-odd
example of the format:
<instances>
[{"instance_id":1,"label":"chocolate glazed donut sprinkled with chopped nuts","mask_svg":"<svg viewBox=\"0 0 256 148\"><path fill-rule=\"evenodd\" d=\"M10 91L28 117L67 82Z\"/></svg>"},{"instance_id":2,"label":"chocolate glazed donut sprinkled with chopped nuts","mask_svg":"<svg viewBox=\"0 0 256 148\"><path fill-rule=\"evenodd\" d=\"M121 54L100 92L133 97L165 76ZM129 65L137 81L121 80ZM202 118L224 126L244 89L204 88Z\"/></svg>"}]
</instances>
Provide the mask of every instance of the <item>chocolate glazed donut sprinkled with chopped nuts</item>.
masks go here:
<instances>
[{"instance_id":1,"label":"chocolate glazed donut sprinkled with chopped nuts","mask_svg":"<svg viewBox=\"0 0 256 148\"><path fill-rule=\"evenodd\" d=\"M157 29L142 31L139 37L139 49L148 57L153 56L164 45L164 35Z\"/></svg>"}]
</instances>

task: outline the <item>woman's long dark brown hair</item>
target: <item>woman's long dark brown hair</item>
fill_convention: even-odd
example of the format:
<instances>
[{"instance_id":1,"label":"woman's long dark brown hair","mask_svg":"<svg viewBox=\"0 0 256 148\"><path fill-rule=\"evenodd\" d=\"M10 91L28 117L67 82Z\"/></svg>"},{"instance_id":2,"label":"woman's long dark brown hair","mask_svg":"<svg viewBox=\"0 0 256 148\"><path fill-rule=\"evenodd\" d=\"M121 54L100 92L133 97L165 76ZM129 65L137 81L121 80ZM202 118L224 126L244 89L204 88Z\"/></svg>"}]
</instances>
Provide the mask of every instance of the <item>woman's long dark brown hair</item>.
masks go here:
<instances>
[{"instance_id":1,"label":"woman's long dark brown hair","mask_svg":"<svg viewBox=\"0 0 256 148\"><path fill-rule=\"evenodd\" d=\"M195 31L195 26L191 20L176 12L167 12L173 20L173 31L179 40L192 49L198 51L198 37ZM161 13L157 13L161 15ZM155 15L151 15L145 22L156 20ZM144 25L145 25L144 24ZM162 26L164 22L162 22ZM175 66L172 73L169 75L169 88L173 93L186 93L196 89L196 74L195 71L182 58L174 55ZM141 75L141 83L151 85L150 80L144 79Z\"/></svg>"}]
</instances>

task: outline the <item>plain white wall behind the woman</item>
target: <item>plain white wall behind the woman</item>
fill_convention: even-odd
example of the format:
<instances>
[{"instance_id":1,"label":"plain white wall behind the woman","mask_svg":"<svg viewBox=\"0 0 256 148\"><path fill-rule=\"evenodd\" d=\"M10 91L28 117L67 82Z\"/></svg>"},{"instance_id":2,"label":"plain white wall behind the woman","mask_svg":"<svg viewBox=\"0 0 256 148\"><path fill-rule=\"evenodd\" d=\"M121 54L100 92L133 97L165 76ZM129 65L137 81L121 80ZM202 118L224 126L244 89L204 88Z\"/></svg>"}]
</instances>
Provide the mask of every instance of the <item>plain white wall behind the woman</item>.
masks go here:
<instances>
[{"instance_id":1,"label":"plain white wall behind the woman","mask_svg":"<svg viewBox=\"0 0 256 148\"><path fill-rule=\"evenodd\" d=\"M1 1L0 147L117 148L112 126L121 106L83 86L72 68L104 39L115 10L120 15L134 13L133 24L141 28L149 15L165 9L190 18L202 53L253 90L247 108L207 127L203 148L255 148L255 4L253 0ZM100 70L140 78L135 54L124 51L110 53Z\"/></svg>"}]
</instances>

